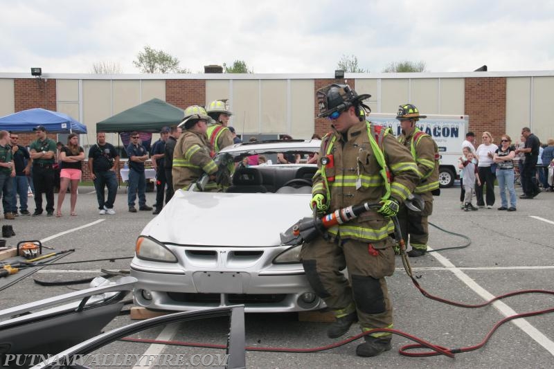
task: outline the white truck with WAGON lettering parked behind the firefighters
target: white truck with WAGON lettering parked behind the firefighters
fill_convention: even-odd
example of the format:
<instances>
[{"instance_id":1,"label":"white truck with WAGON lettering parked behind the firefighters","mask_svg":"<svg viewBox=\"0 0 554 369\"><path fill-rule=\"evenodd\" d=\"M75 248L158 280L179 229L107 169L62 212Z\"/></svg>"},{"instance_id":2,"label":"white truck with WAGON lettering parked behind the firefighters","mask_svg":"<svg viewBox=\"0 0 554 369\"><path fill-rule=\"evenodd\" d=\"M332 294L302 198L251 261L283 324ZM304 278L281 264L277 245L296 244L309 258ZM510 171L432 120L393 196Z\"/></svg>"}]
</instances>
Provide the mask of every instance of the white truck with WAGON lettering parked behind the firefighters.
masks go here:
<instances>
[{"instance_id":1,"label":"white truck with WAGON lettering parked behind the firefighters","mask_svg":"<svg viewBox=\"0 0 554 369\"><path fill-rule=\"evenodd\" d=\"M400 136L400 120L395 114L370 114L368 120L376 125L391 127ZM470 124L469 116L428 115L416 124L423 132L433 137L440 154L438 181L441 188L452 187L458 178L458 158L462 152L462 142Z\"/></svg>"}]
</instances>

